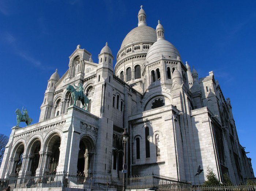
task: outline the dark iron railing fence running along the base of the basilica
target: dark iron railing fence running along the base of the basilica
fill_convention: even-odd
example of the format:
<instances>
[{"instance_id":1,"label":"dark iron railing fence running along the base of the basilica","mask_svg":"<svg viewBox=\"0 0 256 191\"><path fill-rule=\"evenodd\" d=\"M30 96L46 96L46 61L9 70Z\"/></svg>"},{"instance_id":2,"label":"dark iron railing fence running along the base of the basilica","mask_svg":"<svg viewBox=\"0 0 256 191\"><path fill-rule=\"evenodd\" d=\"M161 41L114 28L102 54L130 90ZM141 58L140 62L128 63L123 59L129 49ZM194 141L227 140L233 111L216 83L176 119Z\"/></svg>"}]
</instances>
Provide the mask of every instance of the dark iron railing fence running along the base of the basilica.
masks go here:
<instances>
[{"instance_id":1,"label":"dark iron railing fence running along the base of the basilica","mask_svg":"<svg viewBox=\"0 0 256 191\"><path fill-rule=\"evenodd\" d=\"M108 177L84 177L77 174L57 173L48 175L35 175L23 177L9 177L0 179L0 191L7 186L13 188L44 188L44 187L68 187L86 190L122 190L122 178ZM180 181L174 178L148 175L133 176L125 179L128 190L151 189L158 191L256 191L256 185L192 185L191 182Z\"/></svg>"}]
</instances>

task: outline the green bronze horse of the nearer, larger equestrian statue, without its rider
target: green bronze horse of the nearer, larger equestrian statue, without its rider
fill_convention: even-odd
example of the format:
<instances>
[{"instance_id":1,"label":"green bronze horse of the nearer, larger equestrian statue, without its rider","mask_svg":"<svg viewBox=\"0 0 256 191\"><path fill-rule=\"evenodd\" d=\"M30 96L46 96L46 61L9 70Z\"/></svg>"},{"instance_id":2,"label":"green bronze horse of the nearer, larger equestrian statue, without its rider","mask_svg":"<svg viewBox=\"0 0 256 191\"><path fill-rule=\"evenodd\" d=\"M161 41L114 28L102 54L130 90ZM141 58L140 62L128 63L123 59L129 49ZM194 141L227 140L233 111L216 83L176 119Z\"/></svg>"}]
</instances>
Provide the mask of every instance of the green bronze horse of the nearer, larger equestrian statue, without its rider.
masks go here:
<instances>
[{"instance_id":1,"label":"green bronze horse of the nearer, larger equestrian statue, without its rider","mask_svg":"<svg viewBox=\"0 0 256 191\"><path fill-rule=\"evenodd\" d=\"M79 100L82 102L82 109L84 109L85 107L85 110L88 111L88 105L89 104L89 99L86 95L84 95L83 91L76 91L75 87L73 87L72 85L68 85L67 87L67 90L71 92L71 97L74 101L74 104L73 105L76 105L76 100Z\"/></svg>"}]
</instances>

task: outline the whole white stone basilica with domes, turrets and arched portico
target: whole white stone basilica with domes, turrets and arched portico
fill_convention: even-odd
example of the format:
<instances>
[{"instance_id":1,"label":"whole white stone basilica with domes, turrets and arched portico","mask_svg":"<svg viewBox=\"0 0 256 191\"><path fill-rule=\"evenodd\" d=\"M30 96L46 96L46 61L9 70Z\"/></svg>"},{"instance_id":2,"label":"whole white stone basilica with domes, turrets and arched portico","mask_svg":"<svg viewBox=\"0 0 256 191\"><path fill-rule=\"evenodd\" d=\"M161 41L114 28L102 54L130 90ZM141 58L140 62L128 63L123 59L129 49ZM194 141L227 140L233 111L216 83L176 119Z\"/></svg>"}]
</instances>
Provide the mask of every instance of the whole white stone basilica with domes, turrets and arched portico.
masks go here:
<instances>
[{"instance_id":1,"label":"whole white stone basilica with domes, turrets and arched portico","mask_svg":"<svg viewBox=\"0 0 256 191\"><path fill-rule=\"evenodd\" d=\"M154 173L202 184L210 168L220 182L224 174L233 184L254 178L231 101L213 71L198 78L165 32L160 21L147 26L141 7L138 27L116 59L111 43L96 63L90 47L78 45L65 74L56 70L45 83L39 121L12 127L0 178L60 171L122 177L124 161L126 176ZM86 95L84 109L68 86ZM195 176L199 165L204 171Z\"/></svg>"}]
</instances>

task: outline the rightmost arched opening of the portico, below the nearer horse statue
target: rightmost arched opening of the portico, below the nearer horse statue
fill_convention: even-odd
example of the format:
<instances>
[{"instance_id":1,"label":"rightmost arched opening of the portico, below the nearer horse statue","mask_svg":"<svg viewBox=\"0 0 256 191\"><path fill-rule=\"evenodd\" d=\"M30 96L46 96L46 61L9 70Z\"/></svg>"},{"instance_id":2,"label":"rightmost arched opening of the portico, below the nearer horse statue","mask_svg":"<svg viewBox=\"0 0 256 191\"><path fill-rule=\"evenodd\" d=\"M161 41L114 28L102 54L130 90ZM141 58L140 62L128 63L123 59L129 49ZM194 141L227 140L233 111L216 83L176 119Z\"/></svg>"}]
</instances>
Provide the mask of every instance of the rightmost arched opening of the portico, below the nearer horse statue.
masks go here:
<instances>
[{"instance_id":1,"label":"rightmost arched opening of the portico, below the nearer horse statue","mask_svg":"<svg viewBox=\"0 0 256 191\"><path fill-rule=\"evenodd\" d=\"M90 176L93 171L94 144L90 137L84 136L79 143L79 153L77 170L78 173L84 173L84 176Z\"/></svg>"}]
</instances>

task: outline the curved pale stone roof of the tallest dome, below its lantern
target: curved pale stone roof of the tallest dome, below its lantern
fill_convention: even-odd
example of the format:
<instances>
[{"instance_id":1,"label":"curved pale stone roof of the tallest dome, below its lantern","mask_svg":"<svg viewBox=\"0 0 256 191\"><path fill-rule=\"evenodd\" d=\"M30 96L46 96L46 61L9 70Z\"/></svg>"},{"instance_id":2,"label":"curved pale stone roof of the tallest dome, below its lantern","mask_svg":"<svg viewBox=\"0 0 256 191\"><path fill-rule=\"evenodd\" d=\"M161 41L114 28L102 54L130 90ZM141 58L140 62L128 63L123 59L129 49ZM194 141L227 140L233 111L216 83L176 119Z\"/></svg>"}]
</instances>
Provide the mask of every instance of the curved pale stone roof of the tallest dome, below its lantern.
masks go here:
<instances>
[{"instance_id":1,"label":"curved pale stone roof of the tallest dome, below its lantern","mask_svg":"<svg viewBox=\"0 0 256 191\"><path fill-rule=\"evenodd\" d=\"M157 33L154 28L148 26L139 26L133 28L124 38L121 48L136 42L151 42L157 41Z\"/></svg>"}]
</instances>

